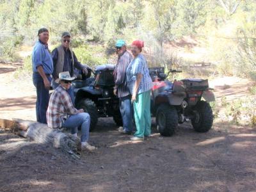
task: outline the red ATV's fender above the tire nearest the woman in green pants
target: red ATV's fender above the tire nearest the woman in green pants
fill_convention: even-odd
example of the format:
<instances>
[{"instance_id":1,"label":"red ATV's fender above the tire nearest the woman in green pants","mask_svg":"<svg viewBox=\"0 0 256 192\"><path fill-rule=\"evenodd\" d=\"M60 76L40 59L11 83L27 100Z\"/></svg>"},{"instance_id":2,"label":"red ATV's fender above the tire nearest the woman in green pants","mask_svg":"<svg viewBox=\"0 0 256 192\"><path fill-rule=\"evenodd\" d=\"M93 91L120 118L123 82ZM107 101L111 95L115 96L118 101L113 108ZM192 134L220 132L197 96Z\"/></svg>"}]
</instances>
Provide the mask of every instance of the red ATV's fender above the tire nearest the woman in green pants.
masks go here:
<instances>
[{"instance_id":1,"label":"red ATV's fender above the tire nearest the woman in green pants","mask_svg":"<svg viewBox=\"0 0 256 192\"><path fill-rule=\"evenodd\" d=\"M168 102L172 106L179 106L186 95L177 95L172 92L162 92L159 95L157 95L156 100L155 100L155 106L162 104L164 102Z\"/></svg>"}]
</instances>

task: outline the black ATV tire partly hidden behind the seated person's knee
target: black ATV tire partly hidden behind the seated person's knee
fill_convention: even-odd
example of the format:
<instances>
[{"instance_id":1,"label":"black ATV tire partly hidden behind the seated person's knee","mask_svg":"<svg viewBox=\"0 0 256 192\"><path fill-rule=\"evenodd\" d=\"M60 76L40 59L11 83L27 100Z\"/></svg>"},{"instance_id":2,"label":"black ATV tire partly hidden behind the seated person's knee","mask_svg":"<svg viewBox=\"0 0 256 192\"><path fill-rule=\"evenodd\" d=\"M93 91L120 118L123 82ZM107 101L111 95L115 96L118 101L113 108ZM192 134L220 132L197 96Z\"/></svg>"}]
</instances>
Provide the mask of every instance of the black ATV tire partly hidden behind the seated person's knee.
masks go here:
<instances>
[{"instance_id":1,"label":"black ATV tire partly hidden behind the seated person's knee","mask_svg":"<svg viewBox=\"0 0 256 192\"><path fill-rule=\"evenodd\" d=\"M91 119L90 131L95 129L98 122L98 112L95 102L93 102L91 99L83 99L78 103L77 109L84 109L84 112L89 113Z\"/></svg>"}]
</instances>

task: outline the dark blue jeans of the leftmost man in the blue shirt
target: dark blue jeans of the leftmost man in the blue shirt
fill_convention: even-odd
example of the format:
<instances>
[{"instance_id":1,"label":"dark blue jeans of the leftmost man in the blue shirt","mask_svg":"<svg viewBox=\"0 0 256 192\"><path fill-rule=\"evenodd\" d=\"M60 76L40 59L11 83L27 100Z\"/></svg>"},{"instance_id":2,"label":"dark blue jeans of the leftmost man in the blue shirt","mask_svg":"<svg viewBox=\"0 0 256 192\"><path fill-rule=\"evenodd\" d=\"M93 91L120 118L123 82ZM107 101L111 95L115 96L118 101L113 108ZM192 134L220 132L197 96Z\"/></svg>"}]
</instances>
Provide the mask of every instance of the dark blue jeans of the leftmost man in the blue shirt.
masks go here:
<instances>
[{"instance_id":1,"label":"dark blue jeans of the leftmost man in the blue shirt","mask_svg":"<svg viewBox=\"0 0 256 192\"><path fill-rule=\"evenodd\" d=\"M51 77L48 77L51 82ZM46 111L49 104L49 90L44 86L44 80L39 73L33 73L33 84L36 87L36 121L42 124L46 122Z\"/></svg>"}]
</instances>

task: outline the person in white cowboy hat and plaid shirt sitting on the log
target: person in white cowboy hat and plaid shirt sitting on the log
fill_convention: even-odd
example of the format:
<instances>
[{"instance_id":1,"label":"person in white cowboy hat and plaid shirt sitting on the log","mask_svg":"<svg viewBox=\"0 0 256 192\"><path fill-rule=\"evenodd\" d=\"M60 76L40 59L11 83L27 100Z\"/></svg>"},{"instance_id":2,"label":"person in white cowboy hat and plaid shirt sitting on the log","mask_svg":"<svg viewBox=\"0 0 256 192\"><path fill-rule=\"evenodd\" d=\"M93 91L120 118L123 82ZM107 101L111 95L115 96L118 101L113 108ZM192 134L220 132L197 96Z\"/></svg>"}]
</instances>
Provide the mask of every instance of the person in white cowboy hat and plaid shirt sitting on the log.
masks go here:
<instances>
[{"instance_id":1,"label":"person in white cowboy hat and plaid shirt sitting on the log","mask_svg":"<svg viewBox=\"0 0 256 192\"><path fill-rule=\"evenodd\" d=\"M77 127L81 126L81 150L94 150L96 147L88 143L90 115L84 113L83 109L76 109L67 92L74 79L75 77L70 77L69 72L61 72L59 78L56 79L56 83L60 85L54 90L49 100L46 112L47 125L52 129L61 127L71 129L75 140L78 139ZM68 118L67 115L69 115Z\"/></svg>"}]
</instances>

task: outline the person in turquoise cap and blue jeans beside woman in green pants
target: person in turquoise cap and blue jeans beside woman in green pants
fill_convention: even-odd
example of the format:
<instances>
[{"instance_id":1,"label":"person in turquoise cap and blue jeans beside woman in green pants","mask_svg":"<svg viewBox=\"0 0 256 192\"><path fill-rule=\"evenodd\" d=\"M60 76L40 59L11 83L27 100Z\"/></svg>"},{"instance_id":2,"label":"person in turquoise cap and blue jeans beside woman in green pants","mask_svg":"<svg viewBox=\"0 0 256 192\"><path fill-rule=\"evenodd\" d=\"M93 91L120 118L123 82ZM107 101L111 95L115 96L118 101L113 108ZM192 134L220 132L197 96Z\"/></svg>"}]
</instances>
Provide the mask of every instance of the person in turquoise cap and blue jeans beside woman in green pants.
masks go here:
<instances>
[{"instance_id":1,"label":"person in turquoise cap and blue jeans beside woman in green pants","mask_svg":"<svg viewBox=\"0 0 256 192\"><path fill-rule=\"evenodd\" d=\"M118 60L114 69L114 94L119 98L120 112L123 120L123 127L119 127L118 131L123 134L131 134L132 105L131 94L129 93L129 88L127 86L126 69L132 61L132 55L127 51L124 40L117 40L115 46Z\"/></svg>"}]
</instances>

